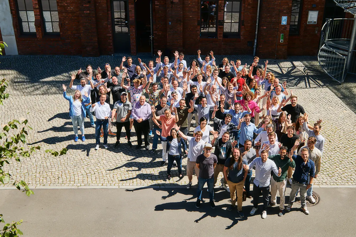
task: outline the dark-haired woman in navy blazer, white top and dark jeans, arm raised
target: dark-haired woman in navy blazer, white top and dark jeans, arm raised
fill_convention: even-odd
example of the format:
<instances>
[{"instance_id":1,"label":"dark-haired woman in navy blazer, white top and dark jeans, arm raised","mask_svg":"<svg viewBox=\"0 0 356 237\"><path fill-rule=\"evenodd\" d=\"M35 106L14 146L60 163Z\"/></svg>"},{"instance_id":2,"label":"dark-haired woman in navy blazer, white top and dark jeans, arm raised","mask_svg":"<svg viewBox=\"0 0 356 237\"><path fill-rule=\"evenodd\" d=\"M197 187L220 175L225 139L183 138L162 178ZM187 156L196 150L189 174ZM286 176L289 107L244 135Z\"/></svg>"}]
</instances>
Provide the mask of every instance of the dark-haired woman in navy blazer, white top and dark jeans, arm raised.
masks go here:
<instances>
[{"instance_id":1,"label":"dark-haired woman in navy blazer, white top and dark jeans, arm raised","mask_svg":"<svg viewBox=\"0 0 356 237\"><path fill-rule=\"evenodd\" d=\"M167 175L168 175L168 180L172 178L171 176L171 168L173 165L173 161L177 162L178 166L178 173L179 173L179 179L183 178L182 174L182 144L183 144L183 150L187 154L187 145L185 145L185 142L183 138L181 138L177 132L176 129L172 128L171 129L171 135L167 136L167 138L164 138L161 136L161 133L156 130L157 135L159 136L159 139L161 141L166 141L167 142L167 155L168 155L168 166L167 166Z\"/></svg>"}]
</instances>

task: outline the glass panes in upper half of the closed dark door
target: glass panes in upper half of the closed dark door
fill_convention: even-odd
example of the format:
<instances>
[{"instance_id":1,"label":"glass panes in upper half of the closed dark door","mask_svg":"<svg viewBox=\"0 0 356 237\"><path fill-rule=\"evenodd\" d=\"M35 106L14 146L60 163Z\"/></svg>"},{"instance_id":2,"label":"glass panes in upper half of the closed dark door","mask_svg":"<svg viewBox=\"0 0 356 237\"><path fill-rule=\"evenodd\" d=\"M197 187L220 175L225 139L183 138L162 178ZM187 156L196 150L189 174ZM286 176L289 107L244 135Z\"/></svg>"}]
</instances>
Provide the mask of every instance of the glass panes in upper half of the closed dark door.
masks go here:
<instances>
[{"instance_id":1,"label":"glass panes in upper half of the closed dark door","mask_svg":"<svg viewBox=\"0 0 356 237\"><path fill-rule=\"evenodd\" d=\"M114 1L115 33L129 32L126 15L127 1Z\"/></svg>"}]
</instances>

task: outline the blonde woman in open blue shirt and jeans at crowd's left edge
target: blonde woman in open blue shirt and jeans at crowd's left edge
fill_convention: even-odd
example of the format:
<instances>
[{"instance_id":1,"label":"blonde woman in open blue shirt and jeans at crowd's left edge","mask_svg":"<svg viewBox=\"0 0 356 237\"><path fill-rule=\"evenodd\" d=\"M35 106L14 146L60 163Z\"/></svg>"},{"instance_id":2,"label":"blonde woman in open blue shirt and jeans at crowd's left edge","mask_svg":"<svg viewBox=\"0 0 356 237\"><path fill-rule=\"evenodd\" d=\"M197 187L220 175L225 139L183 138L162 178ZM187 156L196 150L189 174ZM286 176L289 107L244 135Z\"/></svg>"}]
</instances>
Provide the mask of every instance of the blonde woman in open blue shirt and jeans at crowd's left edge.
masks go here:
<instances>
[{"instance_id":1,"label":"blonde woman in open blue shirt and jeans at crowd's left edge","mask_svg":"<svg viewBox=\"0 0 356 237\"><path fill-rule=\"evenodd\" d=\"M88 97L88 93L85 92L84 95L86 97L85 100L82 98L82 94L79 90L74 92L73 96L67 96L67 86L64 84L63 87L63 97L69 101L69 116L72 119L73 131L74 131L74 141L78 141L78 125L80 128L80 132L82 133L82 141L85 141L84 136L84 118L87 115L87 111L85 110L85 104L90 103L90 99Z\"/></svg>"}]
</instances>

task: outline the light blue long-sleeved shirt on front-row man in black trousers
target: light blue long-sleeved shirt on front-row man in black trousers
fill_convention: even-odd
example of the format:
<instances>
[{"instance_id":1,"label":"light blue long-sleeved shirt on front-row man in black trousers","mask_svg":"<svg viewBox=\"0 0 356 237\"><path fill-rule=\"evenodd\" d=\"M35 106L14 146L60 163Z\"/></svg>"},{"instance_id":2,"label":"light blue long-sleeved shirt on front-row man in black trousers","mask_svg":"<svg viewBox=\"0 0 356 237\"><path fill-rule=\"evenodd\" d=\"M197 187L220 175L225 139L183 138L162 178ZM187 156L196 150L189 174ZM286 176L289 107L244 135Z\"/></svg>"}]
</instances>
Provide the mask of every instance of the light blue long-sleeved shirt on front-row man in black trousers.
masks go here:
<instances>
[{"instance_id":1,"label":"light blue long-sleeved shirt on front-row man in black trousers","mask_svg":"<svg viewBox=\"0 0 356 237\"><path fill-rule=\"evenodd\" d=\"M269 186L269 181L271 180L271 171L273 171L276 176L280 177L281 174L278 175L278 168L276 166L276 163L274 161L267 159L266 162L262 162L261 157L255 158L251 163L250 163L250 170L252 170L253 166L256 166L255 170L255 179L253 180L253 183L260 185L260 187L267 187Z\"/></svg>"}]
</instances>

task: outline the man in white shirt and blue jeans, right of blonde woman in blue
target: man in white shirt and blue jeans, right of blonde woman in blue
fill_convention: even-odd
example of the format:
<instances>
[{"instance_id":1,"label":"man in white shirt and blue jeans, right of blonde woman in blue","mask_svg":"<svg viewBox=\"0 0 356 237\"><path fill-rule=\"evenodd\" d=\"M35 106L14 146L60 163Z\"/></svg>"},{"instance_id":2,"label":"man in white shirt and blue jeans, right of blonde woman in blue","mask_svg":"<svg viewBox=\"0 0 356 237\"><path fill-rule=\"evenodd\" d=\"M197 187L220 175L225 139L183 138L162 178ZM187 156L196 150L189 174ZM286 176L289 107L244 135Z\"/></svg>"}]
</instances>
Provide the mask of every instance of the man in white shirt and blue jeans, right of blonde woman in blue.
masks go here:
<instances>
[{"instance_id":1,"label":"man in white shirt and blue jeans, right of blonde woman in blue","mask_svg":"<svg viewBox=\"0 0 356 237\"><path fill-rule=\"evenodd\" d=\"M96 146L95 150L99 149L100 144L100 130L101 126L103 126L104 131L104 148L108 149L108 125L109 125L109 117L111 113L110 105L105 103L106 94L100 95L100 101L92 104L90 108L90 112L95 111L95 140Z\"/></svg>"}]
</instances>

